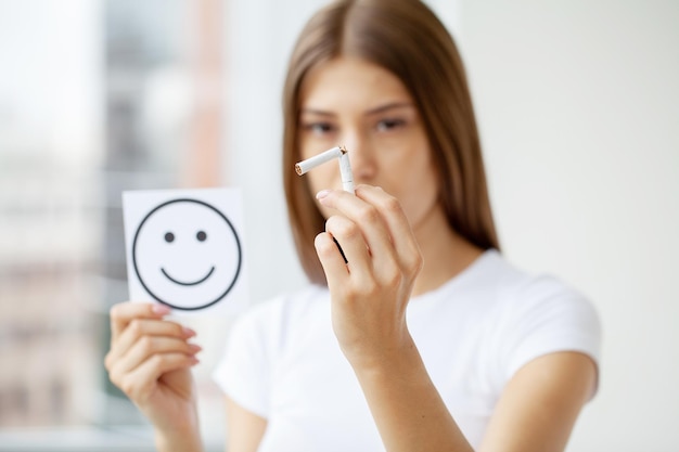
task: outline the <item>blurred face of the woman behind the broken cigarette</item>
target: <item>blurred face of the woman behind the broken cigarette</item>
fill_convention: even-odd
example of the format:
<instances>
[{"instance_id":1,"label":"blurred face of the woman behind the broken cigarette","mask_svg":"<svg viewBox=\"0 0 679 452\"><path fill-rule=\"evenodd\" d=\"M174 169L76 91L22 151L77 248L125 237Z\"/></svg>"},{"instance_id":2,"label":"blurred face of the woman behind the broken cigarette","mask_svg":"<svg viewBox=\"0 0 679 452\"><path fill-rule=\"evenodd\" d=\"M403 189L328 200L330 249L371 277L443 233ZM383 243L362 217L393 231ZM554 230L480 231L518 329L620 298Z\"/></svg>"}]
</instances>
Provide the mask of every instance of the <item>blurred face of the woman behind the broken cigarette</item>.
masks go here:
<instances>
[{"instance_id":1,"label":"blurred face of the woman behind the broken cigarette","mask_svg":"<svg viewBox=\"0 0 679 452\"><path fill-rule=\"evenodd\" d=\"M303 159L345 145L354 182L396 196L413 228L437 206L437 178L420 114L392 73L358 59L331 60L306 76L300 106ZM309 178L312 196L342 189L337 160L303 177ZM328 218L330 212L320 208Z\"/></svg>"}]
</instances>

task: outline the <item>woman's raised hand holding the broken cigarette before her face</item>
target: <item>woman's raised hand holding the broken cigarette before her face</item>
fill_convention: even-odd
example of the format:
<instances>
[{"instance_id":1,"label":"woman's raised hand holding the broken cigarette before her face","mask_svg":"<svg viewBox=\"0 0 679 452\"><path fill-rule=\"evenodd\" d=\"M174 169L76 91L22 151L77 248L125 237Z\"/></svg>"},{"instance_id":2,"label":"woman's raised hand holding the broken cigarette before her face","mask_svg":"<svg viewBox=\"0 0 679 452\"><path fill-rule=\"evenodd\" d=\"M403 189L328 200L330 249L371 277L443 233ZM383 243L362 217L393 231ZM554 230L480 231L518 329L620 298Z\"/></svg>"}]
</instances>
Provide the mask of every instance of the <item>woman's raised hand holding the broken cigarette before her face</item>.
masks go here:
<instances>
[{"instance_id":1,"label":"woman's raised hand holding the broken cigarette before her face","mask_svg":"<svg viewBox=\"0 0 679 452\"><path fill-rule=\"evenodd\" d=\"M356 196L322 191L317 198L337 212L315 242L333 330L351 365L380 365L413 347L406 307L422 268L420 248L400 203L380 188L359 185Z\"/></svg>"}]
</instances>

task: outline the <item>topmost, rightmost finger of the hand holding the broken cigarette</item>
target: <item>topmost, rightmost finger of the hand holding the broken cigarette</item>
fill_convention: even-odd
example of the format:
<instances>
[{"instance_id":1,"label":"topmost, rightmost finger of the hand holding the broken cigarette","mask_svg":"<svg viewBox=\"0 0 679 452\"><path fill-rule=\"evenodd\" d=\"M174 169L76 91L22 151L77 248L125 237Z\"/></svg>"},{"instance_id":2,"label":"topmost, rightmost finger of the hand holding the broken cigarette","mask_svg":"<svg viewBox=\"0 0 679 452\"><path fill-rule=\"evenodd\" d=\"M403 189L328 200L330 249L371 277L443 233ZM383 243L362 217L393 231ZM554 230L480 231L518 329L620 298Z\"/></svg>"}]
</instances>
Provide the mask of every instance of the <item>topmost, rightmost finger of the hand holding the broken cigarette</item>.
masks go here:
<instances>
[{"instance_id":1,"label":"topmost, rightmost finger of the hand holding the broken cigarette","mask_svg":"<svg viewBox=\"0 0 679 452\"><path fill-rule=\"evenodd\" d=\"M418 272L422 266L420 246L398 199L384 190L371 185L357 186L356 197L366 201L380 211L388 234L393 237L399 263L409 273Z\"/></svg>"}]
</instances>

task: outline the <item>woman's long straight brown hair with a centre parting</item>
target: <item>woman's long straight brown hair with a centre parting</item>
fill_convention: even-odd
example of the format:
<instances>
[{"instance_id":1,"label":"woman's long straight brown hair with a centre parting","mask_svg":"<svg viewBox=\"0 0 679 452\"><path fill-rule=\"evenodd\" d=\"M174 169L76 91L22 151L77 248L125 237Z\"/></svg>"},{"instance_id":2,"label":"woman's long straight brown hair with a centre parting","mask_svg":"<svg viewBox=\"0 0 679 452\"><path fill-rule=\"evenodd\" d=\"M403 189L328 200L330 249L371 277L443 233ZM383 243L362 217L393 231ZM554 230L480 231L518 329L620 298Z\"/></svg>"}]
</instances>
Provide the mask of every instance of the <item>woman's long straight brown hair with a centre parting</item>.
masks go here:
<instances>
[{"instance_id":1,"label":"woman's long straight brown hair with a centre parting","mask_svg":"<svg viewBox=\"0 0 679 452\"><path fill-rule=\"evenodd\" d=\"M450 227L482 249L498 248L474 109L457 47L419 0L340 0L303 29L283 90L283 183L297 254L312 283L326 284L313 247L324 219L299 160L299 91L305 76L332 59L356 56L396 77L422 116Z\"/></svg>"}]
</instances>

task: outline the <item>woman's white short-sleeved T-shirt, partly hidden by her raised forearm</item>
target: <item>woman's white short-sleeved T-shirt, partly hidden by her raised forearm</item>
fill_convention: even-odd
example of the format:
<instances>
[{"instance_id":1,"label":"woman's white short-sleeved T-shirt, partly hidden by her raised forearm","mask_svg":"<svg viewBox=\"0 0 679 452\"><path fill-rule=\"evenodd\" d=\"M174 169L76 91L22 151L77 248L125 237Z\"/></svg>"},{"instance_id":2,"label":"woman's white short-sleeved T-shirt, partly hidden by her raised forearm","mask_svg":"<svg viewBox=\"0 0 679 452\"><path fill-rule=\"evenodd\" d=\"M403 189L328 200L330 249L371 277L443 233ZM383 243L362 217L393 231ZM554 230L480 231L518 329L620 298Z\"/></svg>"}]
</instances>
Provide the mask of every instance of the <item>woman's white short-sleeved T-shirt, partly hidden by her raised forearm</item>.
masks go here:
<instances>
[{"instance_id":1,"label":"woman's white short-sleeved T-shirt, partly hidden by her raised forearm","mask_svg":"<svg viewBox=\"0 0 679 452\"><path fill-rule=\"evenodd\" d=\"M260 452L384 451L330 315L328 289L310 286L255 306L234 325L214 378L267 418ZM524 364L564 350L599 360L592 305L556 279L517 271L496 250L413 297L407 315L434 385L474 448Z\"/></svg>"}]
</instances>

